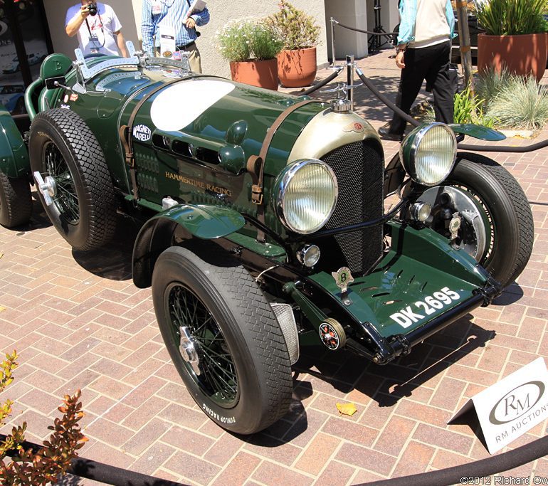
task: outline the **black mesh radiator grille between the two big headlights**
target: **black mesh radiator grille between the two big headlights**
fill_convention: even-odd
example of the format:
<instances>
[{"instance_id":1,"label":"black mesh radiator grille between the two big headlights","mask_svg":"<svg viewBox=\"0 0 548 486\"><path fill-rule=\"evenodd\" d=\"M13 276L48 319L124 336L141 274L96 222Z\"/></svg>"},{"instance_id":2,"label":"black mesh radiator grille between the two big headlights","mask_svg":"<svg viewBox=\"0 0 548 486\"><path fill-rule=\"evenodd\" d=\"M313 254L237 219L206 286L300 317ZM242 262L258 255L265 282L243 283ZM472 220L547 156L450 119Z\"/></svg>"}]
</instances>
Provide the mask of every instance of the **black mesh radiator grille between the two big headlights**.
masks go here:
<instances>
[{"instance_id":1,"label":"black mesh radiator grille between the two big headlights","mask_svg":"<svg viewBox=\"0 0 548 486\"><path fill-rule=\"evenodd\" d=\"M354 142L322 157L333 169L339 183L337 206L325 229L342 228L372 221L383 214L383 156L372 141ZM382 252L382 225L340 233L315 241L322 250L320 268L326 271L347 266L363 275Z\"/></svg>"}]
</instances>

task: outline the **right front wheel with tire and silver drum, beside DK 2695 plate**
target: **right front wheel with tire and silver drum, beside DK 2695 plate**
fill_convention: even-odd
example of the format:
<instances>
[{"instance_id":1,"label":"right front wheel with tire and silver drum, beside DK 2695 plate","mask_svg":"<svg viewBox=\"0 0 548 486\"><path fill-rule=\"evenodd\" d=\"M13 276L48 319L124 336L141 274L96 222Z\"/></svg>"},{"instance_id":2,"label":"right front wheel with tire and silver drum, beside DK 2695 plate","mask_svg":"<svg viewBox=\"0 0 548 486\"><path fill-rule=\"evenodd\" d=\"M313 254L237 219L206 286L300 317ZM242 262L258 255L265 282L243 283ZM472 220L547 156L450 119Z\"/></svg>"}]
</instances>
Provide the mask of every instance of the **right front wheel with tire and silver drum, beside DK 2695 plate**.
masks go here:
<instances>
[{"instance_id":1,"label":"right front wheel with tire and silver drum, beside DK 2695 plate","mask_svg":"<svg viewBox=\"0 0 548 486\"><path fill-rule=\"evenodd\" d=\"M500 164L460 154L446 181L417 200L433 208L427 226L472 255L502 287L522 273L532 253L532 211L520 184Z\"/></svg>"}]
</instances>

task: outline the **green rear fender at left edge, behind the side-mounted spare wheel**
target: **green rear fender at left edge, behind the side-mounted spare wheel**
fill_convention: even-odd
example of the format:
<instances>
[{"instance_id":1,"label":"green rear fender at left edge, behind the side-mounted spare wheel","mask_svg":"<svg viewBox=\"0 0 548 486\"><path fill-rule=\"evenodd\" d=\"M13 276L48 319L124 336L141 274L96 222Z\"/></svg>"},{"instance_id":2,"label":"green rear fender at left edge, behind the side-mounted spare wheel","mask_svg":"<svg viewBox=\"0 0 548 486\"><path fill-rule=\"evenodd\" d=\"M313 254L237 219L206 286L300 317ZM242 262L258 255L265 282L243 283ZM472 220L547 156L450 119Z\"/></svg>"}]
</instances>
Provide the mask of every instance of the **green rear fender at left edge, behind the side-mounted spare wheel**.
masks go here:
<instances>
[{"instance_id":1,"label":"green rear fender at left edge, behind the side-mounted spare wheel","mask_svg":"<svg viewBox=\"0 0 548 486\"><path fill-rule=\"evenodd\" d=\"M0 105L0 129L0 171L14 179L25 176L31 171L28 151L4 105Z\"/></svg>"}]
</instances>

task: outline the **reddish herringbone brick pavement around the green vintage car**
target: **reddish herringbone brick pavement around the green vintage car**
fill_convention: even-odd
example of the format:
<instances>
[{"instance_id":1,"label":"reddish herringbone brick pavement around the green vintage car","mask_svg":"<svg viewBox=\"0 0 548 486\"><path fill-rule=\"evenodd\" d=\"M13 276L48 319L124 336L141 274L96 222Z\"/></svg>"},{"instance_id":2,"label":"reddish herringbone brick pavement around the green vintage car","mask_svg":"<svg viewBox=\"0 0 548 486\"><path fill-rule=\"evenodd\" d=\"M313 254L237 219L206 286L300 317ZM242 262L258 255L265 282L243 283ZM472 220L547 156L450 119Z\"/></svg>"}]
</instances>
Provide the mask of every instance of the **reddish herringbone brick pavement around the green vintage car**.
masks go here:
<instances>
[{"instance_id":1,"label":"reddish herringbone brick pavement around the green vintage car","mask_svg":"<svg viewBox=\"0 0 548 486\"><path fill-rule=\"evenodd\" d=\"M394 96L399 73L387 53L359 63ZM374 127L388 120L364 88L357 100ZM547 137L545 130L537 140ZM386 143L387 159L396 147ZM520 181L534 213L534 251L517 285L389 366L312 349L295 366L288 416L248 438L215 426L181 385L150 290L130 280L133 223L120 218L113 247L73 252L35 200L28 226L0 228L0 351L21 356L16 381L0 396L16 401L12 423L27 421L29 440L46 438L60 397L80 388L90 438L83 457L196 485L349 485L488 457L475 424L447 426L448 418L548 356L548 149L493 157ZM357 413L339 416L337 401L354 402ZM546 430L541 423L510 448ZM548 460L505 475L533 473L547 477ZM65 480L77 483L95 484Z\"/></svg>"}]
</instances>

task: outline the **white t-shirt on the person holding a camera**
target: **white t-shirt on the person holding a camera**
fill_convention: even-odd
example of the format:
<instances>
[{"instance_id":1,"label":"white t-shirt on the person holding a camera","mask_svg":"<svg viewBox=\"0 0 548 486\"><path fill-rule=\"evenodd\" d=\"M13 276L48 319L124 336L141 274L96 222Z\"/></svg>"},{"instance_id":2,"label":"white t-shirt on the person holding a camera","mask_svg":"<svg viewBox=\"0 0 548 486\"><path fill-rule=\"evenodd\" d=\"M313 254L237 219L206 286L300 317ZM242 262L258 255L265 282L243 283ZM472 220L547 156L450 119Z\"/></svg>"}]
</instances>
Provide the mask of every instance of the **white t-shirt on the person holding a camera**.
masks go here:
<instances>
[{"instance_id":1,"label":"white t-shirt on the person holding a camera","mask_svg":"<svg viewBox=\"0 0 548 486\"><path fill-rule=\"evenodd\" d=\"M71 6L67 10L65 28L75 16L80 15L81 6L82 4L80 3ZM80 49L83 50L84 56L92 53L120 56L114 35L115 32L120 31L120 28L122 28L122 24L118 20L114 10L109 5L97 2L97 15L88 15L76 34L78 36L78 44Z\"/></svg>"}]
</instances>

